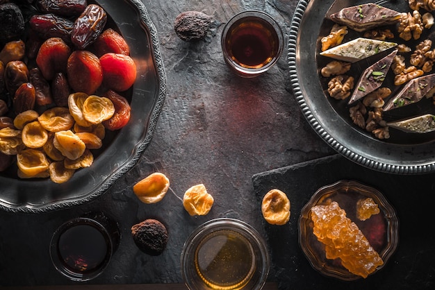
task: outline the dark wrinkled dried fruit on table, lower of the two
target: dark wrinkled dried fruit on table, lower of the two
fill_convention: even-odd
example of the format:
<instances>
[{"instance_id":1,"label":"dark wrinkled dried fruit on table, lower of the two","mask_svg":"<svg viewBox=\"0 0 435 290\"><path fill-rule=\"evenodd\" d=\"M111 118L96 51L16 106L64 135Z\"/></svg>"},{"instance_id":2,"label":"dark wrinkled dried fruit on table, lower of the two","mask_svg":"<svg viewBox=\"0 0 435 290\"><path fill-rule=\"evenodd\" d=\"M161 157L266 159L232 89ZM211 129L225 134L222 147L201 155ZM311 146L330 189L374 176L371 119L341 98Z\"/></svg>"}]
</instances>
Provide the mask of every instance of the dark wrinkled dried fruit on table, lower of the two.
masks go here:
<instances>
[{"instance_id":1,"label":"dark wrinkled dried fruit on table, lower of the two","mask_svg":"<svg viewBox=\"0 0 435 290\"><path fill-rule=\"evenodd\" d=\"M165 225L156 219L146 219L133 225L131 236L142 252L152 256L160 255L167 244Z\"/></svg>"}]
</instances>

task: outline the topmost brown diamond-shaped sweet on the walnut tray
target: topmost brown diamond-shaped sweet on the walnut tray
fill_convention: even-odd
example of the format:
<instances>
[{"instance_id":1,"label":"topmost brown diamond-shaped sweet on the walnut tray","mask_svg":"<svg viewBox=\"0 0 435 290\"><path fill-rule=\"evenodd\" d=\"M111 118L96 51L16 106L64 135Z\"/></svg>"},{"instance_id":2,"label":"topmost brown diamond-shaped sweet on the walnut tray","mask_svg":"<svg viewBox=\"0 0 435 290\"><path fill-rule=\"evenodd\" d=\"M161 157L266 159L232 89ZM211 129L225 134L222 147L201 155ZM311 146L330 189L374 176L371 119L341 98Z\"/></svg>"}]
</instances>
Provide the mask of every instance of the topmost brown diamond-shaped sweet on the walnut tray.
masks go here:
<instances>
[{"instance_id":1,"label":"topmost brown diamond-shaped sweet on the walnut tray","mask_svg":"<svg viewBox=\"0 0 435 290\"><path fill-rule=\"evenodd\" d=\"M346 25L354 31L366 31L377 26L395 24L400 20L401 13L375 3L343 8L330 16L338 24Z\"/></svg>"}]
</instances>

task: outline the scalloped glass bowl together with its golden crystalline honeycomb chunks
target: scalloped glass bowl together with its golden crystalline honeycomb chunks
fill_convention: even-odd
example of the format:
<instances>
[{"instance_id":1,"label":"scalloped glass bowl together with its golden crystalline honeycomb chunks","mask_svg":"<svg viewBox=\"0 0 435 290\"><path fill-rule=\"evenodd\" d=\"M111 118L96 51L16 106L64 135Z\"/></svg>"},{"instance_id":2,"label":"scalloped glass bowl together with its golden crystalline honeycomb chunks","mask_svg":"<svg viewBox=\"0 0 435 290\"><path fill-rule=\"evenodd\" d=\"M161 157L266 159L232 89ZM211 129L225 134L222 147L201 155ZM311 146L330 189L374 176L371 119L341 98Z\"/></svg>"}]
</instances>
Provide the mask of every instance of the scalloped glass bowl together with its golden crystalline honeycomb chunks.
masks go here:
<instances>
[{"instance_id":1,"label":"scalloped glass bowl together with its golden crystalline honeycomb chunks","mask_svg":"<svg viewBox=\"0 0 435 290\"><path fill-rule=\"evenodd\" d=\"M299 245L311 266L340 280L381 270L398 244L399 221L377 189L355 180L321 187L302 208Z\"/></svg>"}]
</instances>

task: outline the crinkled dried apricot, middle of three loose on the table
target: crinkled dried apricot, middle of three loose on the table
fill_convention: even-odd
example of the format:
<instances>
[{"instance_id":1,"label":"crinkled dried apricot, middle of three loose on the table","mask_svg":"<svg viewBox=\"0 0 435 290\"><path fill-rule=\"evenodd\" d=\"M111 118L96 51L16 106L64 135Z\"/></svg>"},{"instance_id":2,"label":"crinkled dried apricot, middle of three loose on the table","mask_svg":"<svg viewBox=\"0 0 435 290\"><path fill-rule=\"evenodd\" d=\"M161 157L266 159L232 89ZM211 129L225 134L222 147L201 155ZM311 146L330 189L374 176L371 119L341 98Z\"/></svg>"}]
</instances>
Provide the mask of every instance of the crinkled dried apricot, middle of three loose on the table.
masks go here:
<instances>
[{"instance_id":1,"label":"crinkled dried apricot, middle of three loose on the table","mask_svg":"<svg viewBox=\"0 0 435 290\"><path fill-rule=\"evenodd\" d=\"M194 185L183 196L183 207L191 216L204 216L210 212L214 199L203 184Z\"/></svg>"}]
</instances>

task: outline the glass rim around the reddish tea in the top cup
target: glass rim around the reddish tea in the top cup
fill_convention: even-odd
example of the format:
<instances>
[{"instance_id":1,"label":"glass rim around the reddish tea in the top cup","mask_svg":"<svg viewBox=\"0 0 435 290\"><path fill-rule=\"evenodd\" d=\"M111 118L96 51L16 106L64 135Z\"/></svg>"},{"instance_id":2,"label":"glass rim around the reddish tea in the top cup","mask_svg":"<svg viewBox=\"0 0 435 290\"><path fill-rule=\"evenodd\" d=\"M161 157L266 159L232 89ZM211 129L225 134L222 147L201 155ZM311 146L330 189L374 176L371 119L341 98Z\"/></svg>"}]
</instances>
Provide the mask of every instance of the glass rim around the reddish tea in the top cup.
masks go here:
<instances>
[{"instance_id":1,"label":"glass rim around the reddish tea in the top cup","mask_svg":"<svg viewBox=\"0 0 435 290\"><path fill-rule=\"evenodd\" d=\"M259 68L243 67L243 66L239 65L237 62L230 60L230 58L228 57L229 52L227 51L227 47L225 45L225 42L227 39L227 33L229 32L229 29L233 26L233 24L235 24L240 19L243 19L245 17L258 17L259 19L263 20L264 22L267 22L268 24L270 24L270 26L272 26L272 28L274 28L274 31L277 33L277 37L278 37L277 55L274 56L274 58L272 58L272 60L270 60L270 62L268 62L263 67L259 67ZM284 50L284 33L281 29L281 26L279 26L278 22L275 19L273 19L273 17L271 15L269 15L267 12L264 12L261 10L254 10L254 9L243 10L243 11L236 13L236 15L233 15L233 17L231 17L229 19L229 21L224 25L222 35L220 38L220 42L221 42L222 54L224 56L225 62L227 62L229 64L229 66L234 71L236 71L236 73L239 74L240 76L255 77L255 76L259 76L259 75L263 74L265 71L268 71L268 69L270 69L270 67L275 65L275 63L281 57L281 54Z\"/></svg>"}]
</instances>

